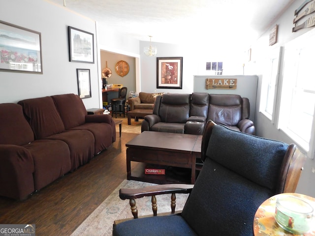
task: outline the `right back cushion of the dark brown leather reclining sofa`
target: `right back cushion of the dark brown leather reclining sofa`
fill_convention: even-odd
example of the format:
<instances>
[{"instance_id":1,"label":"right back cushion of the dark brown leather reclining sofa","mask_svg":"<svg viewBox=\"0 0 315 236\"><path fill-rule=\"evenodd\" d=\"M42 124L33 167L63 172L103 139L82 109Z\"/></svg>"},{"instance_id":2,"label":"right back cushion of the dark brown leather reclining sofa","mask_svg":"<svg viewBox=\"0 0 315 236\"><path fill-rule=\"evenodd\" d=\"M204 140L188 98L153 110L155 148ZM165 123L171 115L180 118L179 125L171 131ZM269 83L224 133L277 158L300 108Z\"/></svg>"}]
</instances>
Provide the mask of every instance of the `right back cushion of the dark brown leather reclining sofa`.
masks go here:
<instances>
[{"instance_id":1,"label":"right back cushion of the dark brown leather reclining sofa","mask_svg":"<svg viewBox=\"0 0 315 236\"><path fill-rule=\"evenodd\" d=\"M242 97L233 94L210 94L208 120L226 126L237 126L242 119Z\"/></svg>"}]
</instances>

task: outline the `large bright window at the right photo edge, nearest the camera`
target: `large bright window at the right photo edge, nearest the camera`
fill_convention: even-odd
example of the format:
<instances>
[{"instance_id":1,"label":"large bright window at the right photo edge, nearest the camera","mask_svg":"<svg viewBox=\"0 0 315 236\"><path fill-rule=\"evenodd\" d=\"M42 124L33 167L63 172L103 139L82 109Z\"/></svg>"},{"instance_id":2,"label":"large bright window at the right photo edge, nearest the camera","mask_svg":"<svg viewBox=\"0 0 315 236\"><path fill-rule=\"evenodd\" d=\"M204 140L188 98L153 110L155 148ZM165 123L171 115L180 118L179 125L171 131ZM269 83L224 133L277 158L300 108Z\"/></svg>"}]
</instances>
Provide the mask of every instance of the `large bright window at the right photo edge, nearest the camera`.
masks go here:
<instances>
[{"instance_id":1,"label":"large bright window at the right photo edge, nearest the camera","mask_svg":"<svg viewBox=\"0 0 315 236\"><path fill-rule=\"evenodd\" d=\"M285 46L279 118L279 128L306 151L313 139L315 115L315 33L310 32Z\"/></svg>"}]
</instances>

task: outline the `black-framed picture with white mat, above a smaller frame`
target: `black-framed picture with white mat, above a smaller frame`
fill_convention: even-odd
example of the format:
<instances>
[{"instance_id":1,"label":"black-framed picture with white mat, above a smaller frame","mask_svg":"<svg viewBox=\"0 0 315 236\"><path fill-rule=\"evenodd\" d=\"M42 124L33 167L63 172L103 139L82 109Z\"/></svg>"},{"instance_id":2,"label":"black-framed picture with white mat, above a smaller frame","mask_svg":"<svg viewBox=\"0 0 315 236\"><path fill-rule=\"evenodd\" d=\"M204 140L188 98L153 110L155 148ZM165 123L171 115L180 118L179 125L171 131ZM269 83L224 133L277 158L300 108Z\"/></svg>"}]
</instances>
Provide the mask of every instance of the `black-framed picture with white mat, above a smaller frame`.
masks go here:
<instances>
[{"instance_id":1,"label":"black-framed picture with white mat, above a smaller frame","mask_svg":"<svg viewBox=\"0 0 315 236\"><path fill-rule=\"evenodd\" d=\"M94 63L94 34L68 26L69 61Z\"/></svg>"}]
</instances>

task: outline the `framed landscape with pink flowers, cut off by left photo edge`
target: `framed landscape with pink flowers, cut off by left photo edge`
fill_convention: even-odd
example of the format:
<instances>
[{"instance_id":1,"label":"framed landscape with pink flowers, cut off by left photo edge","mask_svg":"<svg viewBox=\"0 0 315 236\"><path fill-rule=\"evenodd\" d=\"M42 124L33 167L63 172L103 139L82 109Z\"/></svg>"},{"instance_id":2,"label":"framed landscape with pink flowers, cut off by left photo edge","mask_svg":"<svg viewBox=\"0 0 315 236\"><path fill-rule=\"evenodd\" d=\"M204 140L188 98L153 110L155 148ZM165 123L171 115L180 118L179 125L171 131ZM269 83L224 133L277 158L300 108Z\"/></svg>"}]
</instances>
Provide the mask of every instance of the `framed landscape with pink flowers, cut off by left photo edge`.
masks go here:
<instances>
[{"instance_id":1,"label":"framed landscape with pink flowers, cut off by left photo edge","mask_svg":"<svg viewBox=\"0 0 315 236\"><path fill-rule=\"evenodd\" d=\"M42 74L41 33L0 21L0 70Z\"/></svg>"}]
</instances>

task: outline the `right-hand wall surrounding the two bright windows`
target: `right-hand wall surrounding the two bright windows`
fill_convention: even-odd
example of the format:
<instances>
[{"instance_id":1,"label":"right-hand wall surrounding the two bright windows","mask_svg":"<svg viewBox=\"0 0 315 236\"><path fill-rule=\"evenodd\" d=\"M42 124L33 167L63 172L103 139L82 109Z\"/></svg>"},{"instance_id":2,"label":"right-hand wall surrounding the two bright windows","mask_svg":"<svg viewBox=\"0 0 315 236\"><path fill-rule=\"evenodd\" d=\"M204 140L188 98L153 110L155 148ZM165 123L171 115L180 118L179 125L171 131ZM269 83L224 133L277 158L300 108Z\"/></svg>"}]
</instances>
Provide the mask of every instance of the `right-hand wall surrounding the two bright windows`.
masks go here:
<instances>
[{"instance_id":1,"label":"right-hand wall surrounding the two bright windows","mask_svg":"<svg viewBox=\"0 0 315 236\"><path fill-rule=\"evenodd\" d=\"M311 29L311 28L301 29L297 32L292 32L292 27L294 27L293 25L294 10L297 9L302 4L302 2L304 2L304 0L295 0L292 3L292 5L284 12L284 14L272 25L272 26L276 24L279 25L278 42L276 44L274 44L273 46L269 46L269 29L268 29L257 40L257 42L251 45L252 61L251 63L249 63L249 71L253 74L258 75L258 89L257 89L257 103L256 103L257 108L259 108L259 104L260 104L261 83L262 83L262 79L263 79L262 75L264 71L263 65L264 65L264 61L268 53L276 47L285 46L285 43L291 41L292 39L298 37L299 35ZM306 19L299 21L298 24L303 23ZM280 64L278 98L277 98L276 113L275 113L276 116L279 115L279 106L280 106L279 96L281 94L281 86L284 79L282 77L282 71L283 71L283 65L284 65L283 63L284 61L282 60ZM310 75L310 76L313 76L313 75ZM256 109L255 127L256 127L256 134L258 136L280 140L288 144L294 143L294 141L290 137L288 137L282 130L277 129L277 122L272 123L268 118L266 118L263 114L259 112L259 109ZM300 149L304 151L302 148ZM315 197L315 188L313 187L314 182L315 182L315 173L312 172L312 168L315 168L315 160L308 158L306 161L306 164L304 165L304 171L302 172L302 176L298 183L296 192Z\"/></svg>"}]
</instances>

